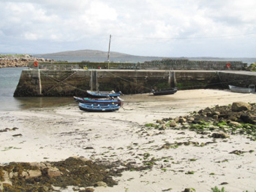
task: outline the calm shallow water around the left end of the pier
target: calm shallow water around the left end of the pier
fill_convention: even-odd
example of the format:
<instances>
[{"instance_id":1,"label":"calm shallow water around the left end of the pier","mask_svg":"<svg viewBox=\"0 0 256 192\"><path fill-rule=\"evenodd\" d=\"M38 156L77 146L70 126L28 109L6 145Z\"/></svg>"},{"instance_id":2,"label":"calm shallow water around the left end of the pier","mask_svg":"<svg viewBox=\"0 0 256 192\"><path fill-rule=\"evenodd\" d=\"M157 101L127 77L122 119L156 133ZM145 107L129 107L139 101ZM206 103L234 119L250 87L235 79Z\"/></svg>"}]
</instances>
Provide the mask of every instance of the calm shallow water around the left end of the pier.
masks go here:
<instances>
[{"instance_id":1,"label":"calm shallow water around the left end of the pier","mask_svg":"<svg viewBox=\"0 0 256 192\"><path fill-rule=\"evenodd\" d=\"M72 97L13 97L26 67L0 68L0 111L54 107L73 102Z\"/></svg>"}]
</instances>

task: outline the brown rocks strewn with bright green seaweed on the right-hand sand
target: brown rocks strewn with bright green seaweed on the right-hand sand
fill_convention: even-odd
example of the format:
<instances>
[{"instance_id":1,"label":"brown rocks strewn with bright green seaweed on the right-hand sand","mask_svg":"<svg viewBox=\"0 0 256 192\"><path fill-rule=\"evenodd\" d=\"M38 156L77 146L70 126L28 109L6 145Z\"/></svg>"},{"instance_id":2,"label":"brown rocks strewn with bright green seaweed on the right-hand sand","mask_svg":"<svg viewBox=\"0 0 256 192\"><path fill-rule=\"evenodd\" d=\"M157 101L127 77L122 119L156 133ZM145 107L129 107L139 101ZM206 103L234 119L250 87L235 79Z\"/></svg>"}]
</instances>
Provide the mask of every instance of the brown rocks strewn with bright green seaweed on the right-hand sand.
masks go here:
<instances>
[{"instance_id":1,"label":"brown rocks strewn with bright green seaweed on the right-hand sand","mask_svg":"<svg viewBox=\"0 0 256 192\"><path fill-rule=\"evenodd\" d=\"M247 135L256 140L256 104L233 102L232 105L205 108L190 115L164 118L153 124L155 128L190 129L212 138L228 138L229 135ZM160 124L160 122L165 122ZM214 132L209 135L210 132Z\"/></svg>"}]
</instances>

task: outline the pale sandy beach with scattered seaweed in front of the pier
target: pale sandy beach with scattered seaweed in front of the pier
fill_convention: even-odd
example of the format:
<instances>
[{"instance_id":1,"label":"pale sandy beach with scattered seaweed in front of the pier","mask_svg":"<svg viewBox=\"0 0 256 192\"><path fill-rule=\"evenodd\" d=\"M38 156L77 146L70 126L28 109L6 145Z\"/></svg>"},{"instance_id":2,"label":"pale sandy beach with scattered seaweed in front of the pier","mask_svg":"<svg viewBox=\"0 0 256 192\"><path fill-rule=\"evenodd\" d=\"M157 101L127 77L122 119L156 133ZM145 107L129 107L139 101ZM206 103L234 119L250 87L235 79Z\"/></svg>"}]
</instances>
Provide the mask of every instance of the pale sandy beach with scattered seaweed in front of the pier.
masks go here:
<instances>
[{"instance_id":1,"label":"pale sandy beach with scattered seaweed in front of the pier","mask_svg":"<svg viewBox=\"0 0 256 192\"><path fill-rule=\"evenodd\" d=\"M151 170L123 172L114 187L95 191L226 191L256 190L256 145L246 136L227 139L204 147L179 146L158 150L170 142L212 142L188 130L147 129L157 119L175 118L215 105L236 101L256 102L255 94L228 90L185 90L174 95L124 95L124 106L116 112L80 111L75 102L54 108L0 112L0 163L59 161L70 156L110 162L157 159ZM234 155L234 150L255 151ZM188 174L193 172L193 174ZM73 191L70 188L62 191Z\"/></svg>"}]
</instances>

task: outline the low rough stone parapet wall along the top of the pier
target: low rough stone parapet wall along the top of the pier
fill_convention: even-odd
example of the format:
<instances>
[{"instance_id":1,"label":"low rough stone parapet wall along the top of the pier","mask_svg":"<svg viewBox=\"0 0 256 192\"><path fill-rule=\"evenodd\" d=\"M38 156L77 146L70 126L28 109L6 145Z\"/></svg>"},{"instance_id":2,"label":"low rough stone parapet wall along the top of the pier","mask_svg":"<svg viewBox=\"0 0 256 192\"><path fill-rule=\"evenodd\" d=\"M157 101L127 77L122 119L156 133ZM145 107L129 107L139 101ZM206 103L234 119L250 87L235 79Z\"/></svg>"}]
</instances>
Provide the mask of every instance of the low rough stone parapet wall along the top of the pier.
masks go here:
<instances>
[{"instance_id":1,"label":"low rough stone parapet wall along the top of the pier","mask_svg":"<svg viewBox=\"0 0 256 192\"><path fill-rule=\"evenodd\" d=\"M97 63L97 62L39 62L39 68L48 68L52 70L61 66L72 68L89 68L89 69L133 69L133 70L245 70L247 63L242 61L196 61L187 59L162 59L145 61L144 63ZM33 67L33 62L28 64Z\"/></svg>"}]
</instances>

